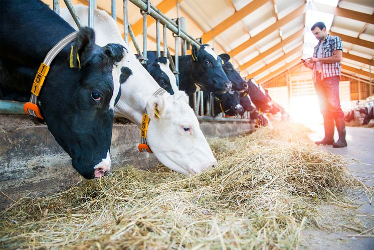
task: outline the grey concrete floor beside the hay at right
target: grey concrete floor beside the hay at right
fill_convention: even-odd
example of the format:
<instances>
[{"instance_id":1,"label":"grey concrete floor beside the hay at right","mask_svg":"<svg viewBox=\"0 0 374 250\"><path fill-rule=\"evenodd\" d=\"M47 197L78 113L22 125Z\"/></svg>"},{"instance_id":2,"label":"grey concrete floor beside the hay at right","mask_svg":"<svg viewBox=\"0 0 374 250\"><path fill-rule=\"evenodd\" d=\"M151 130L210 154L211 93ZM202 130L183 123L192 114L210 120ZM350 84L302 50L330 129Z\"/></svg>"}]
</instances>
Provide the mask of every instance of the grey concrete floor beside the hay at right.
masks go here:
<instances>
[{"instance_id":1,"label":"grey concrete floor beside the hay at right","mask_svg":"<svg viewBox=\"0 0 374 250\"><path fill-rule=\"evenodd\" d=\"M313 132L309 138L313 141L320 141L324 137L322 124L307 124ZM335 129L335 141L338 139ZM351 173L366 184L374 187L374 129L362 127L346 127L346 140L348 146L345 148L332 148L332 146L320 146L336 155L342 155L348 159L354 159L348 165ZM362 216L365 224L374 226L374 200L369 204L365 195L356 193L356 203L361 205L355 212ZM374 249L374 237L349 237L347 235L357 232L331 232L323 230L304 230L302 235L306 244L301 248L305 249Z\"/></svg>"}]
</instances>

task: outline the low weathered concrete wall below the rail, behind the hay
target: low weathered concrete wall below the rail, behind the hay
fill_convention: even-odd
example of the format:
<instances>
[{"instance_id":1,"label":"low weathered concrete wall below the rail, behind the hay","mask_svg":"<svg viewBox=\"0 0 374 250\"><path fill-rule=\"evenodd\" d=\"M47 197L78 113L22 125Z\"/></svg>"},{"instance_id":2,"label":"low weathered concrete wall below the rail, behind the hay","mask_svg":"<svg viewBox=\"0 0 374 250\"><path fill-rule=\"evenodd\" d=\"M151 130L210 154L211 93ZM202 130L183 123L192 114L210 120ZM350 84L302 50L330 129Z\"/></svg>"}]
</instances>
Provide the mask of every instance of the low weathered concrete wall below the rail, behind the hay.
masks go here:
<instances>
[{"instance_id":1,"label":"low weathered concrete wall below the rail, behind the hay","mask_svg":"<svg viewBox=\"0 0 374 250\"><path fill-rule=\"evenodd\" d=\"M235 136L250 130L243 122L201 122L206 136ZM140 130L132 123L114 123L111 145L113 169L126 164L147 169L158 160L140 153ZM25 115L0 115L0 208L28 195L44 196L80 182L67 153L47 126Z\"/></svg>"}]
</instances>

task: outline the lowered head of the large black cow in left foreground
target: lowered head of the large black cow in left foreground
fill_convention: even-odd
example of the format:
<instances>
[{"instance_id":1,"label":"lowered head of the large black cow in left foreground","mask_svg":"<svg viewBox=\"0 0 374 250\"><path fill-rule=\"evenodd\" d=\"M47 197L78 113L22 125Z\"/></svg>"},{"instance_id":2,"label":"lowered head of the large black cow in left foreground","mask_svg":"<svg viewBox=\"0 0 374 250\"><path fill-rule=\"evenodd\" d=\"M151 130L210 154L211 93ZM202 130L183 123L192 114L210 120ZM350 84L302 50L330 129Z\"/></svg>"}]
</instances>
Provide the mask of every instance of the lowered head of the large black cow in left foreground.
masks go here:
<instances>
[{"instance_id":1,"label":"lowered head of the large black cow in left foreground","mask_svg":"<svg viewBox=\"0 0 374 250\"><path fill-rule=\"evenodd\" d=\"M73 46L74 68L69 68L67 46L52 62L40 95L48 129L86 179L104 176L110 169L113 109L120 95L112 67L123 53L118 44L95 45L93 30L81 28Z\"/></svg>"}]
</instances>

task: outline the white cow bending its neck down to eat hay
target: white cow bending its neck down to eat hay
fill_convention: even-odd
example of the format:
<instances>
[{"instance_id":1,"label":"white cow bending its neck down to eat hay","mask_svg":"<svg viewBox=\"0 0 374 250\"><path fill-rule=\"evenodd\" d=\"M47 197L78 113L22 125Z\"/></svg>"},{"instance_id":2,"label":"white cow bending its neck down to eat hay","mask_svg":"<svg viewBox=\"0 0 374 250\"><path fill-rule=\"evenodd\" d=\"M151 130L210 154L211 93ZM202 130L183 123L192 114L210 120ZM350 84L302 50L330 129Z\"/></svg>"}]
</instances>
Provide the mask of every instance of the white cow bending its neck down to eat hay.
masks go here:
<instances>
[{"instance_id":1,"label":"white cow bending its neck down to eat hay","mask_svg":"<svg viewBox=\"0 0 374 250\"><path fill-rule=\"evenodd\" d=\"M82 24L87 25L88 7L77 5L74 8ZM61 17L78 29L67 9L61 9ZM121 98L114 107L114 116L128 118L140 127L142 114L147 107L150 118L147 144L157 159L170 169L189 174L217 166L184 91L153 96L159 89L158 84L124 43L116 22L105 11L94 11L94 30L96 44L118 43L128 52L113 68L114 82L119 82L122 67L128 67L132 72L125 82L121 82ZM159 117L155 115L155 108Z\"/></svg>"}]
</instances>

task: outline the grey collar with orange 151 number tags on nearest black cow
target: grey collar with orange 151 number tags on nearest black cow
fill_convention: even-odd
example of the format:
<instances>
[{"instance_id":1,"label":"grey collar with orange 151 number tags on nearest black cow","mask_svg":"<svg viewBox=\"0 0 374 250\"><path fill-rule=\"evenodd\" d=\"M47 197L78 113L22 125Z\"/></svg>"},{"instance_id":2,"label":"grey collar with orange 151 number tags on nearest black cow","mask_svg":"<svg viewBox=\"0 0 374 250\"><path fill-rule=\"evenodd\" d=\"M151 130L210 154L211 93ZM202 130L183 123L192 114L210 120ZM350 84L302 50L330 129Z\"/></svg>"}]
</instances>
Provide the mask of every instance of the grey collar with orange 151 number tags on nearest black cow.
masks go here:
<instances>
[{"instance_id":1,"label":"grey collar with orange 151 number tags on nearest black cow","mask_svg":"<svg viewBox=\"0 0 374 250\"><path fill-rule=\"evenodd\" d=\"M33 86L31 88L31 97L30 102L26 102L24 105L24 111L26 114L31 114L36 117L39 117L41 119L44 119L39 106L38 106L38 96L42 89L44 80L48 74L50 65L53 61L53 59L60 53L60 51L69 43L74 41L77 38L78 32L73 32L63 38L60 42L58 42L47 54L47 56L44 58L44 61L40 65L38 72L35 76Z\"/></svg>"}]
</instances>

